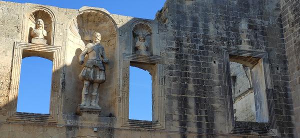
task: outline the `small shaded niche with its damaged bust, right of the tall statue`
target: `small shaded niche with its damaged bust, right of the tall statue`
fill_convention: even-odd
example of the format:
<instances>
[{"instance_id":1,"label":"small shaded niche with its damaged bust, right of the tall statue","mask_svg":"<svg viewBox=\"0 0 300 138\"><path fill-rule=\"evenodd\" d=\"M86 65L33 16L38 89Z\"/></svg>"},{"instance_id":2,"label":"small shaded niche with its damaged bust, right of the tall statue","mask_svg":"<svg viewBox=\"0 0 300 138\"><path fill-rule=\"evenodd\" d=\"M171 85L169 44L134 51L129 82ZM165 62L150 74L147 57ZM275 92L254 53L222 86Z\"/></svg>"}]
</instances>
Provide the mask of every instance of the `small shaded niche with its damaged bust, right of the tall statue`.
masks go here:
<instances>
[{"instance_id":1,"label":"small shaded niche with its damaged bust, right of the tall statue","mask_svg":"<svg viewBox=\"0 0 300 138\"><path fill-rule=\"evenodd\" d=\"M133 27L132 53L140 55L151 55L151 27L144 23L138 23Z\"/></svg>"}]
</instances>

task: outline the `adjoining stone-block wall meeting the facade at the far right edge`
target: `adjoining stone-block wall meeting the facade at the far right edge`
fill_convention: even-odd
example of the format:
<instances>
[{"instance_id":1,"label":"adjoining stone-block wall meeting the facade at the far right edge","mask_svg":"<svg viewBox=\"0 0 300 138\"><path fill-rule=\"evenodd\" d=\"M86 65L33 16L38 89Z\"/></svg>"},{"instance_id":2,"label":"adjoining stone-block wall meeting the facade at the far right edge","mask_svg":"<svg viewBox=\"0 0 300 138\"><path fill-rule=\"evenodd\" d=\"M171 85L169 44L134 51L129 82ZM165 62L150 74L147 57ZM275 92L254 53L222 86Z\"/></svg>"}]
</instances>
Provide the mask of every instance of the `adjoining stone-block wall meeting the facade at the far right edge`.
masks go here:
<instances>
[{"instance_id":1,"label":"adjoining stone-block wall meeting the facade at the far right edge","mask_svg":"<svg viewBox=\"0 0 300 138\"><path fill-rule=\"evenodd\" d=\"M286 96L292 97L296 133L300 136L300 1L280 0L280 5L291 87L291 93L288 93ZM290 101L290 98L285 98L284 100ZM291 108L291 106L288 106L288 108Z\"/></svg>"}]
</instances>

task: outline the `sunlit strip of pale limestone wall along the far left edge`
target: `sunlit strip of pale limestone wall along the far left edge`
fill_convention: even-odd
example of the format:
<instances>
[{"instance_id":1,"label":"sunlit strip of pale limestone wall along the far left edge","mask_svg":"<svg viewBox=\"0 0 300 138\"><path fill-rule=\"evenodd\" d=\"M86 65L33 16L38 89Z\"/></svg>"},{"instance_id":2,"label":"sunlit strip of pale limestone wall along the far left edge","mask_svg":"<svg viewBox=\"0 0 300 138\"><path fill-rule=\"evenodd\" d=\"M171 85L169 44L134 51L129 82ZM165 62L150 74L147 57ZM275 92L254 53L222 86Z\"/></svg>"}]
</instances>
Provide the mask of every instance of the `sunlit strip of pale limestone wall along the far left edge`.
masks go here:
<instances>
[{"instance_id":1,"label":"sunlit strip of pale limestone wall along the far left edge","mask_svg":"<svg viewBox=\"0 0 300 138\"><path fill-rule=\"evenodd\" d=\"M0 115L6 115L13 42L21 40L22 4L0 1ZM10 43L10 44L8 44ZM3 119L1 117L1 119Z\"/></svg>"}]
</instances>

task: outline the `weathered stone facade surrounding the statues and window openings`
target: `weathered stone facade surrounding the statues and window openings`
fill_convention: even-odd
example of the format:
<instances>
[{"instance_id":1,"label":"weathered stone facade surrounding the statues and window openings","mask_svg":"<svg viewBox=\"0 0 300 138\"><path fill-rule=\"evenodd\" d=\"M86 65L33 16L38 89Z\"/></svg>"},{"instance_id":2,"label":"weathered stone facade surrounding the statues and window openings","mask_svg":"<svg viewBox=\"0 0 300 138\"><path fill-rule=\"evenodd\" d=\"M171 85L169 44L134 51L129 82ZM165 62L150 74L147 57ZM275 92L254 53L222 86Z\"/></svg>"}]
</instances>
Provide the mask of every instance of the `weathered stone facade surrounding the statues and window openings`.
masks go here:
<instances>
[{"instance_id":1,"label":"weathered stone facade surrounding the statues and window openings","mask_svg":"<svg viewBox=\"0 0 300 138\"><path fill-rule=\"evenodd\" d=\"M0 1L0 137L297 137L298 5L166 0L150 20ZM30 41L40 17L46 44ZM101 33L109 60L100 114L78 111L79 54L93 32ZM142 54L135 49L139 35L147 42ZM50 114L16 112L20 60L27 56L53 61ZM261 120L234 119L229 61L258 74L252 97ZM152 121L128 119L129 65L152 76Z\"/></svg>"}]
</instances>

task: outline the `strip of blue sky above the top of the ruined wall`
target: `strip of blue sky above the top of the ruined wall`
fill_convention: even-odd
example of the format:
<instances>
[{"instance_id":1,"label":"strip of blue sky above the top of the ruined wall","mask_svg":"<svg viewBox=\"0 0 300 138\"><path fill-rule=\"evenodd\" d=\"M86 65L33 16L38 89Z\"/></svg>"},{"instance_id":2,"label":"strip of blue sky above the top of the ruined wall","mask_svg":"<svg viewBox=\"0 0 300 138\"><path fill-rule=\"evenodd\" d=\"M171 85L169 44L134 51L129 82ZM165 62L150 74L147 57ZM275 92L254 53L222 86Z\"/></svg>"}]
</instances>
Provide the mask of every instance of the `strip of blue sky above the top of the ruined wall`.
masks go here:
<instances>
[{"instance_id":1,"label":"strip of blue sky above the top of the ruined wall","mask_svg":"<svg viewBox=\"0 0 300 138\"><path fill-rule=\"evenodd\" d=\"M4 0L19 3L37 3L63 8L82 6L102 7L113 14L153 19L165 0Z\"/></svg>"}]
</instances>

